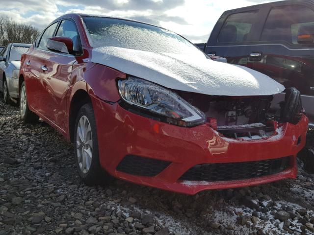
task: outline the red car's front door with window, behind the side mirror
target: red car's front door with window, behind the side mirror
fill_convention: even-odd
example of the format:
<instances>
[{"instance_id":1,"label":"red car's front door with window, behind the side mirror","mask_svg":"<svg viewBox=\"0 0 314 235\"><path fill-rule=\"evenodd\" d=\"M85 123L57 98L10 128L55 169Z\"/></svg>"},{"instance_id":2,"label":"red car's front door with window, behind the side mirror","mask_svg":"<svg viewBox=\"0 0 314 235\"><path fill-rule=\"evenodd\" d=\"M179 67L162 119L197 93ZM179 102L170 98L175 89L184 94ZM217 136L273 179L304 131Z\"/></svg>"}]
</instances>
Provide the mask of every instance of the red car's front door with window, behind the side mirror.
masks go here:
<instances>
[{"instance_id":1,"label":"red car's front door with window, behind the side mirror","mask_svg":"<svg viewBox=\"0 0 314 235\"><path fill-rule=\"evenodd\" d=\"M73 41L73 51L76 55L82 53L78 30L71 19L63 19L56 30L55 36L68 37ZM43 56L40 80L45 92L44 113L62 131L66 130L68 117L66 116L66 94L72 66L76 62L73 54L46 51Z\"/></svg>"}]
</instances>

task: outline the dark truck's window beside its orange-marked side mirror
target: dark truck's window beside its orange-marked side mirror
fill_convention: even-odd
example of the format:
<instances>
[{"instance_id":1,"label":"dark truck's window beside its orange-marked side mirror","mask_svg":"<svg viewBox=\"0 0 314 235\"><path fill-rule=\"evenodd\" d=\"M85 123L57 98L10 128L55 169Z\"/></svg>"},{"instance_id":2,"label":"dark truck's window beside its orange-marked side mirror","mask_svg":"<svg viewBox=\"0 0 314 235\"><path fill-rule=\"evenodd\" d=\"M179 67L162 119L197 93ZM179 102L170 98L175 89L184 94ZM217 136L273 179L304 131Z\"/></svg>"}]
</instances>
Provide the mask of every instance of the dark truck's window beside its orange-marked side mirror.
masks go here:
<instances>
[{"instance_id":1,"label":"dark truck's window beside its orange-marked side mirror","mask_svg":"<svg viewBox=\"0 0 314 235\"><path fill-rule=\"evenodd\" d=\"M297 43L300 26L314 24L314 11L302 5L273 7L264 25L261 41Z\"/></svg>"}]
</instances>

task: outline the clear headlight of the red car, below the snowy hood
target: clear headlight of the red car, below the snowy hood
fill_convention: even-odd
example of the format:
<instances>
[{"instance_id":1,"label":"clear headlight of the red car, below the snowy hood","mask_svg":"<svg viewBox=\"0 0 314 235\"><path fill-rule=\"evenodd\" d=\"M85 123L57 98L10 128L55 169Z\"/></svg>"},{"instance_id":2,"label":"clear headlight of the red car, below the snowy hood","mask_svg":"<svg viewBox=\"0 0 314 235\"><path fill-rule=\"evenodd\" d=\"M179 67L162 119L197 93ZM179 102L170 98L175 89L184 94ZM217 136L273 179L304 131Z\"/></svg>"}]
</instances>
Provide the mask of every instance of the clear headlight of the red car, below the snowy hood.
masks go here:
<instances>
[{"instance_id":1,"label":"clear headlight of the red car, below the snowy hood","mask_svg":"<svg viewBox=\"0 0 314 235\"><path fill-rule=\"evenodd\" d=\"M179 95L143 79L129 76L118 81L119 93L127 104L143 114L179 126L205 122L205 114Z\"/></svg>"}]
</instances>

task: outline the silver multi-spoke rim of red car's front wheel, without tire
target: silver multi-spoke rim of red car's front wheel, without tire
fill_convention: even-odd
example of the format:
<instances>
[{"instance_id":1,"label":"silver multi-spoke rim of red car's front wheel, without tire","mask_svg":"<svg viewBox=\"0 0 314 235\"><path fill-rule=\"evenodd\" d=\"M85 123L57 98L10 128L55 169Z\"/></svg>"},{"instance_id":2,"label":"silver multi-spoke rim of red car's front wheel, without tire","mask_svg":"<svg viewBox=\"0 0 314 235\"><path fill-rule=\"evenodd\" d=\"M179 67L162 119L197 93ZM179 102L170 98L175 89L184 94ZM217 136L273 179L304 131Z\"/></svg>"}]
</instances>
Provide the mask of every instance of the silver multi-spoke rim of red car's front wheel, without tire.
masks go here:
<instances>
[{"instance_id":1,"label":"silver multi-spoke rim of red car's front wheel, without tire","mask_svg":"<svg viewBox=\"0 0 314 235\"><path fill-rule=\"evenodd\" d=\"M77 129L77 156L78 165L82 173L86 174L91 166L93 157L92 130L89 120L82 116L78 121Z\"/></svg>"}]
</instances>

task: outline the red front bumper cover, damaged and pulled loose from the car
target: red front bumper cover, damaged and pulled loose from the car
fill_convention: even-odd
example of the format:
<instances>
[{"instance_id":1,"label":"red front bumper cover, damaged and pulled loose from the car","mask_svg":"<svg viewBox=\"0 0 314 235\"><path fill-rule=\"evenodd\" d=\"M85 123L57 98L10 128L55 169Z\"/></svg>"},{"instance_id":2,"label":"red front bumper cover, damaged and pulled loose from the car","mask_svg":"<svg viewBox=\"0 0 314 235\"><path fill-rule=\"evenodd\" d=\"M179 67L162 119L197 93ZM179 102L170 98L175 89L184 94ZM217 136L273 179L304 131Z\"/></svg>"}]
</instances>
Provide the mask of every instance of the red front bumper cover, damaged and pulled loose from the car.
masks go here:
<instances>
[{"instance_id":1,"label":"red front bumper cover, damaged and pulled loose from the car","mask_svg":"<svg viewBox=\"0 0 314 235\"><path fill-rule=\"evenodd\" d=\"M100 163L111 175L185 194L253 186L297 175L308 118L269 137L221 137L209 123L183 128L145 118L93 97ZM280 133L277 131L280 128Z\"/></svg>"}]
</instances>

